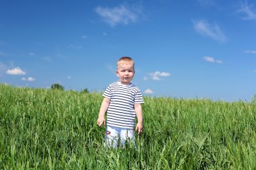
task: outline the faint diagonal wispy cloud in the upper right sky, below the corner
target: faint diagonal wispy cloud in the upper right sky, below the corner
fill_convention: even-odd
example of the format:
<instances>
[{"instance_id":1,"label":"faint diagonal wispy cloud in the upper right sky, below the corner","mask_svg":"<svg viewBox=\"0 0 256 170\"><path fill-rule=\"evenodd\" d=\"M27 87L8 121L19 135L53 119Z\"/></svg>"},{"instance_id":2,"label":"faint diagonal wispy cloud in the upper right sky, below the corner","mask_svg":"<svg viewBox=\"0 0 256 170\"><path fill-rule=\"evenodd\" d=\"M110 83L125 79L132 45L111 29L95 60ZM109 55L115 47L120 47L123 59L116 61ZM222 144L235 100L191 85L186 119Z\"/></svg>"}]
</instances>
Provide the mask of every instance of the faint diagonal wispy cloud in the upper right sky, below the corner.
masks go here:
<instances>
[{"instance_id":1,"label":"faint diagonal wispy cloud in the upper right sky, below the corner","mask_svg":"<svg viewBox=\"0 0 256 170\"><path fill-rule=\"evenodd\" d=\"M199 34L209 36L219 42L226 42L226 36L217 24L209 24L205 19L194 21L193 24Z\"/></svg>"}]
</instances>

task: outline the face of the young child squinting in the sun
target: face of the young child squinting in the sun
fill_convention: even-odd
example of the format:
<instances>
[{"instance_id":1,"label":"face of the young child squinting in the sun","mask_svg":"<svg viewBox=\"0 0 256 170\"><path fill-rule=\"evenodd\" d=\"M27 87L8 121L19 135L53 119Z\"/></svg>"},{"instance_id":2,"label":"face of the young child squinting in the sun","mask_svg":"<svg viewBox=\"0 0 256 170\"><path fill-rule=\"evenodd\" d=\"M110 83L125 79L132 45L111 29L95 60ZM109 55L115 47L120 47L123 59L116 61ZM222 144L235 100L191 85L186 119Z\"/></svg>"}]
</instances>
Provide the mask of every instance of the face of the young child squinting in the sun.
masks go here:
<instances>
[{"instance_id":1,"label":"face of the young child squinting in the sun","mask_svg":"<svg viewBox=\"0 0 256 170\"><path fill-rule=\"evenodd\" d=\"M119 77L120 82L123 85L131 84L131 80L133 79L134 73L135 71L133 63L131 62L120 63L117 67L117 76Z\"/></svg>"}]
</instances>

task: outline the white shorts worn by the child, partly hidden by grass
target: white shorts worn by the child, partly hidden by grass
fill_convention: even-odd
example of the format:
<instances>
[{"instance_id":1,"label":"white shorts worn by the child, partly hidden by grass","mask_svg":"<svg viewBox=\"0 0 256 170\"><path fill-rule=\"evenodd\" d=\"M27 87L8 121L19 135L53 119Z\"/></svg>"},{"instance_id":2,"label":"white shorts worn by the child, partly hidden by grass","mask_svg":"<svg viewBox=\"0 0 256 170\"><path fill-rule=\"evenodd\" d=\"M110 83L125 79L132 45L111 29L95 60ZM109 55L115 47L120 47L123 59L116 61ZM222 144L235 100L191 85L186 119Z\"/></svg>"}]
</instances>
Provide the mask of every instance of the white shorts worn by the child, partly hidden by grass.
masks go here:
<instances>
[{"instance_id":1,"label":"white shorts worn by the child, partly hidden by grass","mask_svg":"<svg viewBox=\"0 0 256 170\"><path fill-rule=\"evenodd\" d=\"M118 141L120 138L121 146L125 147L125 141L131 141L134 144L134 130L127 128L117 128L113 126L106 126L106 144L109 147L117 148Z\"/></svg>"}]
</instances>

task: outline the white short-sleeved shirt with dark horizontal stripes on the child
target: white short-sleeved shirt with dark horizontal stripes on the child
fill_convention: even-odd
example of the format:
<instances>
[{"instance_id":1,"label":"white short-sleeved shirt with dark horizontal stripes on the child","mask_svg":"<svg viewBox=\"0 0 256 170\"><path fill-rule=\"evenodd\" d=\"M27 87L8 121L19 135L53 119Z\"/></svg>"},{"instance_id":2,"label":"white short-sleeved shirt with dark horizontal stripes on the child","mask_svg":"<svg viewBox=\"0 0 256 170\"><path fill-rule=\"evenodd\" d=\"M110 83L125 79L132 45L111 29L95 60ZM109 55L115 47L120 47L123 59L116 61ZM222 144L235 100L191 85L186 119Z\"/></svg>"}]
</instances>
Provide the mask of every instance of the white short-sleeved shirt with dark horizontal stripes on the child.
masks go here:
<instances>
[{"instance_id":1,"label":"white short-sleeved shirt with dark horizontal stripes on the child","mask_svg":"<svg viewBox=\"0 0 256 170\"><path fill-rule=\"evenodd\" d=\"M123 85L117 81L108 85L103 96L110 99L106 126L133 129L136 117L134 104L144 103L139 88L134 84Z\"/></svg>"}]
</instances>

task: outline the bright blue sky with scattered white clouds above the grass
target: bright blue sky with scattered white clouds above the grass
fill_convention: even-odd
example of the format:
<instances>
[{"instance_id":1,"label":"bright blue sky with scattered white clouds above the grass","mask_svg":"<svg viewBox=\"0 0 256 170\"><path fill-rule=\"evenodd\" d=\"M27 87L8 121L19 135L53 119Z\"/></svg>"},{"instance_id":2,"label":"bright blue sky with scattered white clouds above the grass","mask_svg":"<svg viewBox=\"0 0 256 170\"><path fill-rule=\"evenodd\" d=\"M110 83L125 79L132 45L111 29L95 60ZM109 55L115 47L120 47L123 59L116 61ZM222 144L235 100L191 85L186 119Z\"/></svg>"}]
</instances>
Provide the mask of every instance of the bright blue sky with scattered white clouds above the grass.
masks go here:
<instances>
[{"instance_id":1,"label":"bright blue sky with scattered white clouds above the grass","mask_svg":"<svg viewBox=\"0 0 256 170\"><path fill-rule=\"evenodd\" d=\"M121 56L143 95L251 101L256 1L0 1L0 83L102 91Z\"/></svg>"}]
</instances>

